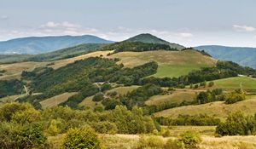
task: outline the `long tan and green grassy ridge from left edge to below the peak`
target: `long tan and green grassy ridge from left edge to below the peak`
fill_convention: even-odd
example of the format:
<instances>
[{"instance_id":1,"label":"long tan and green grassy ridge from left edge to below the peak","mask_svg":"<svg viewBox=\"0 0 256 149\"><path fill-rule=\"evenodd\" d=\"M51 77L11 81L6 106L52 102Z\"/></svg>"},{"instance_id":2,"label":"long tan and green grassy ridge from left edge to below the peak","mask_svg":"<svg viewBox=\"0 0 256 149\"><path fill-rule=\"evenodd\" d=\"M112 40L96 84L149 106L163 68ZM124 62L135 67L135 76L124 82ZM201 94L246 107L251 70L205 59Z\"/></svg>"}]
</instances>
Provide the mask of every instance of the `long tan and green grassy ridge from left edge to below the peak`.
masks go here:
<instances>
[{"instance_id":1,"label":"long tan and green grassy ridge from left edge to below the peak","mask_svg":"<svg viewBox=\"0 0 256 149\"><path fill-rule=\"evenodd\" d=\"M199 69L201 66L214 66L217 61L193 50L120 52L107 56L108 53L112 52L113 51L96 51L73 58L49 62L28 61L14 64L3 64L0 65L0 70L6 70L7 72L3 76L0 76L0 79L20 78L22 71L32 71L38 66L46 66L49 63L54 63L54 65L50 67L57 69L61 66L73 63L75 60L83 60L85 58L100 55L109 59L119 58L120 60L118 63L123 63L126 67L140 66L154 60L160 65L155 77L179 77L180 75L187 74L191 70Z\"/></svg>"}]
</instances>

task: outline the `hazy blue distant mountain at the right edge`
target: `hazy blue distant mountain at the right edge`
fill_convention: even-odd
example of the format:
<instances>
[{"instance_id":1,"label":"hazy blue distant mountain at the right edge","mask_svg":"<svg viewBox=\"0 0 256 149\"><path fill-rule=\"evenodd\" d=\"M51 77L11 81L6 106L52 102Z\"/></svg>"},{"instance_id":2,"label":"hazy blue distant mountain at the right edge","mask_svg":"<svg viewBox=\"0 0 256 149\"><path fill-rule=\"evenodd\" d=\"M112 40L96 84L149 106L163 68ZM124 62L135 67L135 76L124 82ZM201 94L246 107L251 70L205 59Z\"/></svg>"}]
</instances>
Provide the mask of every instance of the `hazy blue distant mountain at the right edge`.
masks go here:
<instances>
[{"instance_id":1,"label":"hazy blue distant mountain at the right edge","mask_svg":"<svg viewBox=\"0 0 256 149\"><path fill-rule=\"evenodd\" d=\"M195 47L195 49L205 50L218 60L231 60L242 66L256 68L256 48L206 45Z\"/></svg>"}]
</instances>

